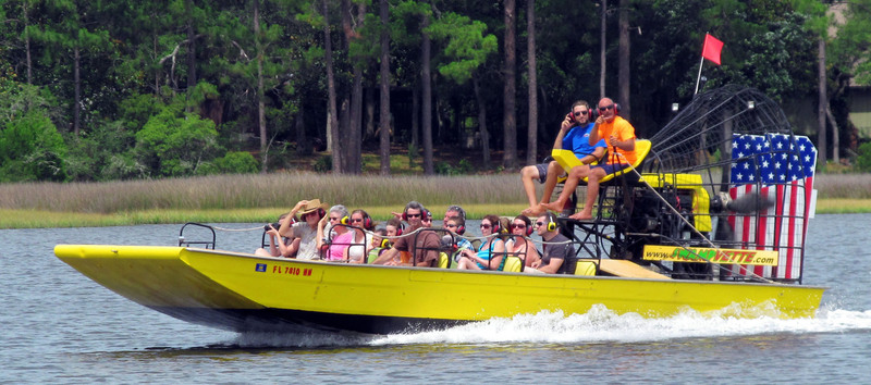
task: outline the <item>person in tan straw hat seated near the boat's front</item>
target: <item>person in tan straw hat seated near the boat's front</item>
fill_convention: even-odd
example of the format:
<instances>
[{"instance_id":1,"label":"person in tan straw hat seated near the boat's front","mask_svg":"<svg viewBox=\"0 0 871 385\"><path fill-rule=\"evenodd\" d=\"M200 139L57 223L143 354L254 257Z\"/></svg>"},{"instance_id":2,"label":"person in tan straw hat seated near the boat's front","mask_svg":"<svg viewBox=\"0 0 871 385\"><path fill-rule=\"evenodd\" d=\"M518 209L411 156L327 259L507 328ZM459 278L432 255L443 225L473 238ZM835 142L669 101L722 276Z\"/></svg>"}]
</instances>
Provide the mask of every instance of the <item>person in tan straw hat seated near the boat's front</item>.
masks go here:
<instances>
[{"instance_id":1,"label":"person in tan straw hat seated near the boat's front","mask_svg":"<svg viewBox=\"0 0 871 385\"><path fill-rule=\"evenodd\" d=\"M319 199L300 200L291 209L284 221L281 222L279 234L283 237L299 239L296 250L296 259L319 259L318 252L318 223L321 218L327 216L327 203L321 203ZM302 222L291 224L291 219L299 214ZM291 245L292 247L294 245Z\"/></svg>"}]
</instances>

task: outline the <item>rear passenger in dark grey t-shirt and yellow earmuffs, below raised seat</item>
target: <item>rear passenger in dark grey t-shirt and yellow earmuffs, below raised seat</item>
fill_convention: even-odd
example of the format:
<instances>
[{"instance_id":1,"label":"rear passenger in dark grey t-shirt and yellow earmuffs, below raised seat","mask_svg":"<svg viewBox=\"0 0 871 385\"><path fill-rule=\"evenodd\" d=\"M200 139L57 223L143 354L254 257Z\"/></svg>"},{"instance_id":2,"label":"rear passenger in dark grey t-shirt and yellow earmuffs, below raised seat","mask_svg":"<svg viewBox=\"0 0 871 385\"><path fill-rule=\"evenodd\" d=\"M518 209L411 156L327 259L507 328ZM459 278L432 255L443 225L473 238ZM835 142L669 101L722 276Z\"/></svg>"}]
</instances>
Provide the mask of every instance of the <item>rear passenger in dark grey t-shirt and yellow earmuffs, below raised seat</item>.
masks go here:
<instances>
[{"instance_id":1,"label":"rear passenger in dark grey t-shirt and yellow earmuffs, below raised seat","mask_svg":"<svg viewBox=\"0 0 871 385\"><path fill-rule=\"evenodd\" d=\"M565 235L560 234L556 215L545 213L536 220L536 232L543 240L541 259L524 273L574 274L575 248Z\"/></svg>"}]
</instances>

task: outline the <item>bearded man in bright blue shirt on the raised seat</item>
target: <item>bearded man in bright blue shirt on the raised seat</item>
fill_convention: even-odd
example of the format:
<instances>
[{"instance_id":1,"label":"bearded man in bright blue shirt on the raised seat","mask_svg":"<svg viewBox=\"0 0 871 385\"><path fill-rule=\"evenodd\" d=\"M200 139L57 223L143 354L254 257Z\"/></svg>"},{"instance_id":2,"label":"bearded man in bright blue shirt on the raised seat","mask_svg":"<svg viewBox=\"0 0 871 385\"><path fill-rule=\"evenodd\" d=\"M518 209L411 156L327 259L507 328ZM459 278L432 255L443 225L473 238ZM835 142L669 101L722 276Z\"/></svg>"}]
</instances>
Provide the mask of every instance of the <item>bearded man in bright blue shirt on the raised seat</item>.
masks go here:
<instances>
[{"instance_id":1,"label":"bearded man in bright blue shirt on the raised seat","mask_svg":"<svg viewBox=\"0 0 871 385\"><path fill-rule=\"evenodd\" d=\"M590 131L593 127L590 117L592 117L590 104L584 100L576 101L572 104L572 112L563 120L556 140L553 142L554 150L572 150L580 162L587 166L600 160L608 147L604 139L599 140L594 146L590 146ZM564 172L556 161L527 165L520 170L524 191L526 191L526 197L529 199L529 208L523 211L524 215L536 218L548 212L548 209L542 204L550 202L553 190L556 187L556 179ZM544 194L541 196L540 202L536 198L536 185L532 182L535 178L544 184Z\"/></svg>"}]
</instances>

